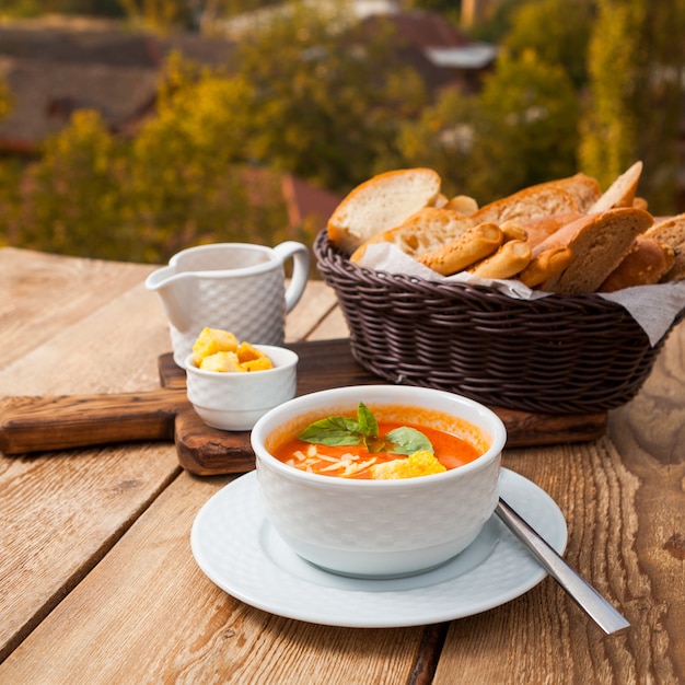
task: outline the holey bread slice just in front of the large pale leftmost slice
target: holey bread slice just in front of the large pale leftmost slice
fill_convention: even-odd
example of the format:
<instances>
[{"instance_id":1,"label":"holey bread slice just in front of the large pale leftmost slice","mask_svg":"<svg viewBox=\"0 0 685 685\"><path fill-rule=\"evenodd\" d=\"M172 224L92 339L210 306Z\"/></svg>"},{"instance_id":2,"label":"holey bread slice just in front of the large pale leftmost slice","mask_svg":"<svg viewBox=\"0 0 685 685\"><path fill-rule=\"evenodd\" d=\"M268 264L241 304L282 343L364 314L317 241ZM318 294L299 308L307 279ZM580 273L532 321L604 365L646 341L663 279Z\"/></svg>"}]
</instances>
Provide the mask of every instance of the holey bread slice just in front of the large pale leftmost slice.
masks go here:
<instances>
[{"instance_id":1,"label":"holey bread slice just in front of the large pale leftmost slice","mask_svg":"<svg viewBox=\"0 0 685 685\"><path fill-rule=\"evenodd\" d=\"M426 207L400 225L382 231L360 245L350 256L358 263L373 243L393 243L415 259L452 242L473 227L473 221L457 211Z\"/></svg>"}]
</instances>

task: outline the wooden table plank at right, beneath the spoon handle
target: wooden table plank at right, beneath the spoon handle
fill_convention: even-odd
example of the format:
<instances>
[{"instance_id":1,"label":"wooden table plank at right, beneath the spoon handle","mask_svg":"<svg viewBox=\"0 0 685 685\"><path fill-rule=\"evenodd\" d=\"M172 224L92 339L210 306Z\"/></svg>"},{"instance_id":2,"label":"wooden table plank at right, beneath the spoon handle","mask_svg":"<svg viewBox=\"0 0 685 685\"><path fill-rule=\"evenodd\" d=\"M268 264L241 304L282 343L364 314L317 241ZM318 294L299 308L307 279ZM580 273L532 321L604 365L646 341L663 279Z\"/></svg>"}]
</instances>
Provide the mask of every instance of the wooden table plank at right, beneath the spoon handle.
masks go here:
<instances>
[{"instance_id":1,"label":"wooden table plank at right, beneath the spoon handle","mask_svg":"<svg viewBox=\"0 0 685 685\"><path fill-rule=\"evenodd\" d=\"M605 438L507 451L503 460L557 501L569 526L566 559L631 622L629 632L604 638L547 578L488 614L453 622L436 685L530 682L532 673L554 683L588 674L597 683L682 680L684 397L681 324L642 391L611 413ZM489 658L474 659L474 650Z\"/></svg>"}]
</instances>

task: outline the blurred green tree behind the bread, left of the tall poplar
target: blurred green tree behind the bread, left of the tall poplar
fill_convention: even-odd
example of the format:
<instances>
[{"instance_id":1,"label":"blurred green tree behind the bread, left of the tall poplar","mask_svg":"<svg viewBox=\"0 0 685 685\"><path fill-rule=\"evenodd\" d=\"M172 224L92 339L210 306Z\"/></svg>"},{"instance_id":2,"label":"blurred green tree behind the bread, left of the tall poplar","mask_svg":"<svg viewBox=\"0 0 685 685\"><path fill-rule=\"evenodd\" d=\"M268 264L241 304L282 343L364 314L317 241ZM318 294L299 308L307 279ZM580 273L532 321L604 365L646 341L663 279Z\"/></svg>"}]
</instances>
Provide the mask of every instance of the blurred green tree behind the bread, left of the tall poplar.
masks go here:
<instances>
[{"instance_id":1,"label":"blurred green tree behind the bread, left of the tall poplar","mask_svg":"<svg viewBox=\"0 0 685 685\"><path fill-rule=\"evenodd\" d=\"M577 171L580 105L562 67L502 53L479 95L444 93L400 136L407 165L428 165L449 194L479 204Z\"/></svg>"}]
</instances>

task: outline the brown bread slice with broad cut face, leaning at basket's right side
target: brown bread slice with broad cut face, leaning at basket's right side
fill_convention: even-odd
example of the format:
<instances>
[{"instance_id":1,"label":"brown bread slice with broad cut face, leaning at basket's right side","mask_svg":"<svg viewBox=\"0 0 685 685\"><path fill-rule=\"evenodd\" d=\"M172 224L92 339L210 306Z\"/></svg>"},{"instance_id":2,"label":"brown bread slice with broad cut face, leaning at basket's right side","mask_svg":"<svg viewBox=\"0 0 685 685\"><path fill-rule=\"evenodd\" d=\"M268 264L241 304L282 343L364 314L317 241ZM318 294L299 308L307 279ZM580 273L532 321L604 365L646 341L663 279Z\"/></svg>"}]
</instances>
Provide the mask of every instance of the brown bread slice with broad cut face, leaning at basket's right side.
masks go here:
<instances>
[{"instance_id":1,"label":"brown bread slice with broad cut face, leaning at basket's right side","mask_svg":"<svg viewBox=\"0 0 685 685\"><path fill-rule=\"evenodd\" d=\"M570 247L576 258L561 274L545 281L542 289L564 294L596 291L652 222L649 212L624 207L581 217L561 227L533 248L533 258L550 247Z\"/></svg>"}]
</instances>

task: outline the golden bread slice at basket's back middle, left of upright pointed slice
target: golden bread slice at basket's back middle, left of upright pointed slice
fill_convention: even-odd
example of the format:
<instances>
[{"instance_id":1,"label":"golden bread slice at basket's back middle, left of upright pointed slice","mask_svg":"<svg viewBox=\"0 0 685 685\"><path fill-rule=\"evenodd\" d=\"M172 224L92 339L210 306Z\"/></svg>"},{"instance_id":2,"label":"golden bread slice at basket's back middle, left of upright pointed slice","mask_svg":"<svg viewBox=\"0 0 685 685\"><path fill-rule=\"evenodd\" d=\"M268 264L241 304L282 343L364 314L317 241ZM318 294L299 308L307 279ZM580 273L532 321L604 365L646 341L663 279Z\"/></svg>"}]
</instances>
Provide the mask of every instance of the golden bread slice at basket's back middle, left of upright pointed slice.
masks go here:
<instances>
[{"instance_id":1,"label":"golden bread slice at basket's back middle, left of upright pointed slice","mask_svg":"<svg viewBox=\"0 0 685 685\"><path fill-rule=\"evenodd\" d=\"M578 204L570 193L554 184L541 184L485 205L472 214L472 219L475 223L502 223L508 219L525 221L572 211L578 211Z\"/></svg>"}]
</instances>

